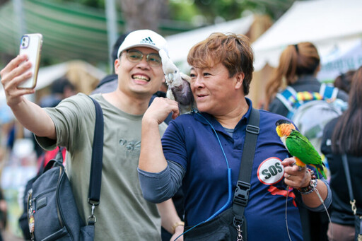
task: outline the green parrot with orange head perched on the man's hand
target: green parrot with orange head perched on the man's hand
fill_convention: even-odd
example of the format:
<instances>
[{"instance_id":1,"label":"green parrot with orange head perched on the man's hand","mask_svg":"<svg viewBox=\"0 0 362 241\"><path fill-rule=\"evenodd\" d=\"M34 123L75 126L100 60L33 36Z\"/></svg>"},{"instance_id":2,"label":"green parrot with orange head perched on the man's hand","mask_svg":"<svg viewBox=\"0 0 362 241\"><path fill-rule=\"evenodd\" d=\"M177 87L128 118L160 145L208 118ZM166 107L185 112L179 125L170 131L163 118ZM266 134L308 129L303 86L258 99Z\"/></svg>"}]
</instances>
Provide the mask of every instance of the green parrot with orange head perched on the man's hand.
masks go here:
<instances>
[{"instance_id":1,"label":"green parrot with orange head perched on the man's hand","mask_svg":"<svg viewBox=\"0 0 362 241\"><path fill-rule=\"evenodd\" d=\"M320 154L315 150L312 143L310 143L305 136L300 134L291 122L288 122L285 119L279 119L275 125L276 133L284 143L284 146L286 146L288 152L296 158L296 165L299 167L311 165L327 179L325 172L323 171L325 164L322 163ZM319 178L318 172L317 177Z\"/></svg>"}]
</instances>

